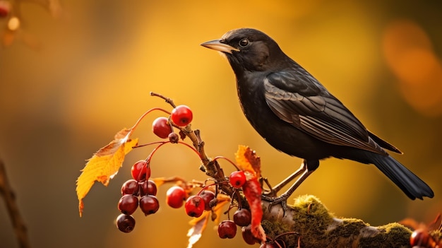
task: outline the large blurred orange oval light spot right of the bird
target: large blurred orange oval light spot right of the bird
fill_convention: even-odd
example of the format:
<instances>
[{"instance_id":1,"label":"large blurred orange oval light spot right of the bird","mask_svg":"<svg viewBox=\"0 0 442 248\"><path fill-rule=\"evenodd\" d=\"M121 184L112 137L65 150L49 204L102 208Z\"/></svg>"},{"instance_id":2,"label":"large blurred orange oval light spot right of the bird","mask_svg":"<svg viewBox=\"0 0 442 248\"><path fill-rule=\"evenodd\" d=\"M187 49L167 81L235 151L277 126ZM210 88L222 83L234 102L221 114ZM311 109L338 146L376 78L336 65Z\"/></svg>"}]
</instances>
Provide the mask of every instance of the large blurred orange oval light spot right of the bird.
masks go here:
<instances>
[{"instance_id":1,"label":"large blurred orange oval light spot right of the bird","mask_svg":"<svg viewBox=\"0 0 442 248\"><path fill-rule=\"evenodd\" d=\"M408 104L427 116L442 114L441 60L424 30L410 20L390 23L383 35L383 52Z\"/></svg>"}]
</instances>

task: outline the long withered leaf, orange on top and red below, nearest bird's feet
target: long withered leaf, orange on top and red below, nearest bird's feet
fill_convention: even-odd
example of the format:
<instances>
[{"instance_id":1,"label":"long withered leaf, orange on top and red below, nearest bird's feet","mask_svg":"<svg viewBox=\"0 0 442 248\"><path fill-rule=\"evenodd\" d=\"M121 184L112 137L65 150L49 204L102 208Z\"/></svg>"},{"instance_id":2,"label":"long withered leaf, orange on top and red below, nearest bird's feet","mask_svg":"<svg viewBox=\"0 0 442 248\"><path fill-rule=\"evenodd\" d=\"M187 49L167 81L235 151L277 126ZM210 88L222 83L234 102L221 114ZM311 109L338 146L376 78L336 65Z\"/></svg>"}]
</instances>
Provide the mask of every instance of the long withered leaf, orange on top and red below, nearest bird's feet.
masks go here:
<instances>
[{"instance_id":1,"label":"long withered leaf, orange on top and red below, nearest bird's feet","mask_svg":"<svg viewBox=\"0 0 442 248\"><path fill-rule=\"evenodd\" d=\"M235 154L239 169L246 175L246 183L242 186L244 196L250 206L251 212L251 233L261 242L265 242L265 231L261 225L263 208L261 206L261 184L258 178L261 177L261 160L255 151L248 146L239 146Z\"/></svg>"}]
</instances>

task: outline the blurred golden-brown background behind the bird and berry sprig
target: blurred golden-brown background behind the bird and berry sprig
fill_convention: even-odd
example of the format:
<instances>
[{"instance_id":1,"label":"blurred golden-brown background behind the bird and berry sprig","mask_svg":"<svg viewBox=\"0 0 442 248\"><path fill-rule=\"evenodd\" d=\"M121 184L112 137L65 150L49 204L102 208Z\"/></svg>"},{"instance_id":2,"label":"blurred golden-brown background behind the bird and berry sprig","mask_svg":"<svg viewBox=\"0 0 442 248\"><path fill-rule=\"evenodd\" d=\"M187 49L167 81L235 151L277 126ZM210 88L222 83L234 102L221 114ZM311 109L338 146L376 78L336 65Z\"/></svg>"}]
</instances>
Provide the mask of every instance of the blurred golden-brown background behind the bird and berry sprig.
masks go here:
<instances>
[{"instance_id":1,"label":"blurred golden-brown background behind the bird and berry sprig","mask_svg":"<svg viewBox=\"0 0 442 248\"><path fill-rule=\"evenodd\" d=\"M273 37L369 130L398 146L405 154L395 158L435 193L410 201L376 167L333 158L321 162L294 196L316 195L338 217L371 225L404 218L429 223L442 210L441 3L66 0L62 6L53 18L24 1L12 42L5 28L11 16L0 18L6 35L0 157L32 247L186 247L191 218L166 205L167 185L157 194L160 211L148 217L136 211L133 232L114 224L121 184L153 147L130 153L109 187L95 184L78 217L75 182L85 160L146 110L169 108L150 91L192 108L192 126L201 129L210 156L234 158L239 144L251 146L273 184L299 167L299 158L256 134L241 113L227 60L200 46L241 27ZM138 127L140 143L157 141L150 125L158 116ZM163 146L152 160L152 177L205 179L198 166L188 148ZM3 201L0 223L0 247L18 247ZM240 234L221 240L213 224L195 245L230 246L249 247Z\"/></svg>"}]
</instances>

